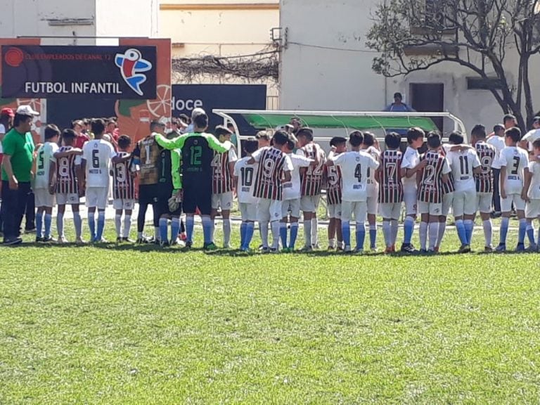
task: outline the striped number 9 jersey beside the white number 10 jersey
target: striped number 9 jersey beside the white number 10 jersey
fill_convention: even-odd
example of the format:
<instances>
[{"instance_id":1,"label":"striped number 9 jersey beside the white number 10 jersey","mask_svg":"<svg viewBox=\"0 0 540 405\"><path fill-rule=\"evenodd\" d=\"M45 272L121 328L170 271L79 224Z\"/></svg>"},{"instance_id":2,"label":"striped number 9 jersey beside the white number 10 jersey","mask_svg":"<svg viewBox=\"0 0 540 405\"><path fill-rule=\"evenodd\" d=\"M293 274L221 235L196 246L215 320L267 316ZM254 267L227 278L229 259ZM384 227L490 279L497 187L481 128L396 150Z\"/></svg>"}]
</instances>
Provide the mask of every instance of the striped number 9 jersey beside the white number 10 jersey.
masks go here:
<instances>
[{"instance_id":1,"label":"striped number 9 jersey beside the white number 10 jersey","mask_svg":"<svg viewBox=\"0 0 540 405\"><path fill-rule=\"evenodd\" d=\"M254 197L267 200L283 199L283 175L292 172L293 162L281 150L267 146L253 153L252 158L259 163Z\"/></svg>"}]
</instances>

